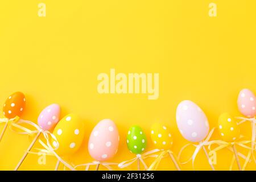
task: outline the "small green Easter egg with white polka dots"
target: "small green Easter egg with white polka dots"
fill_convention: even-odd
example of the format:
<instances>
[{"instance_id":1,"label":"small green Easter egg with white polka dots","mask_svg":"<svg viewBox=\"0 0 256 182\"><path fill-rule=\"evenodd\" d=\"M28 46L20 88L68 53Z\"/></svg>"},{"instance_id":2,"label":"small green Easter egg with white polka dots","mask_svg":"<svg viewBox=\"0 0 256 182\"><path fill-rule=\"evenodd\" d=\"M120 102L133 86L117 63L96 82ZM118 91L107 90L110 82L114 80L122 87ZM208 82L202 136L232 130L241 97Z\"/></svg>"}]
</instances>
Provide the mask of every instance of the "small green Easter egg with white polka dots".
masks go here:
<instances>
[{"instance_id":1,"label":"small green Easter egg with white polka dots","mask_svg":"<svg viewBox=\"0 0 256 182\"><path fill-rule=\"evenodd\" d=\"M126 137L127 147L134 154L141 154L147 146L147 138L141 127L130 127Z\"/></svg>"}]
</instances>

